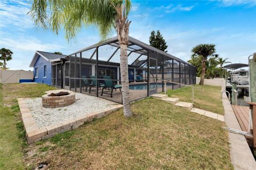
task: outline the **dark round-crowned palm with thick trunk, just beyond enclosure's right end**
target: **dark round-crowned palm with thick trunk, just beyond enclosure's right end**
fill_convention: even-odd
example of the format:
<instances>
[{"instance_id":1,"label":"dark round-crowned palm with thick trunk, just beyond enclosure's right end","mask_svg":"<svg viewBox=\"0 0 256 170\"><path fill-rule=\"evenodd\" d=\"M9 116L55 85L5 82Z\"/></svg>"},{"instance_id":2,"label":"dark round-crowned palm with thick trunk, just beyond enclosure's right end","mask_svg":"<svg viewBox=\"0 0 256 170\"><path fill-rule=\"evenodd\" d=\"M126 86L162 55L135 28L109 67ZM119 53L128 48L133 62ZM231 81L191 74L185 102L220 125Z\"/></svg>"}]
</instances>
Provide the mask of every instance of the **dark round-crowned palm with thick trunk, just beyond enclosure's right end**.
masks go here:
<instances>
[{"instance_id":1,"label":"dark round-crowned palm with thick trunk, just beyond enclosure's right end","mask_svg":"<svg viewBox=\"0 0 256 170\"><path fill-rule=\"evenodd\" d=\"M209 56L215 56L214 53L215 45L214 44L199 44L192 49L192 56L202 57L202 74L201 74L201 80L199 84L204 85L204 78L205 78L205 62L207 61L207 58Z\"/></svg>"}]
</instances>

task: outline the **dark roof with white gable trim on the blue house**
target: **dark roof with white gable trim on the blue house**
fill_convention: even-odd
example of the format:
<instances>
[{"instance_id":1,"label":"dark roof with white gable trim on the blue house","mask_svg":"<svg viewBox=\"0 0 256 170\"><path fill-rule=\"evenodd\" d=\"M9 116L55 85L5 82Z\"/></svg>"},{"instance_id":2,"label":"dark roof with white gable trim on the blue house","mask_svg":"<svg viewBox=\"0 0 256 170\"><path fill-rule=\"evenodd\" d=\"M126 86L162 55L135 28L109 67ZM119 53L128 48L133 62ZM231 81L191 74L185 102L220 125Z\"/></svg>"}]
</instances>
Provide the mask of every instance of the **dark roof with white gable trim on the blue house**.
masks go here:
<instances>
[{"instance_id":1,"label":"dark roof with white gable trim on the blue house","mask_svg":"<svg viewBox=\"0 0 256 170\"><path fill-rule=\"evenodd\" d=\"M36 51L31 63L29 64L29 67L34 67L39 56L43 57L46 61L50 61L50 62L53 60L59 60L60 58L66 57L66 55L62 55L62 54Z\"/></svg>"}]
</instances>

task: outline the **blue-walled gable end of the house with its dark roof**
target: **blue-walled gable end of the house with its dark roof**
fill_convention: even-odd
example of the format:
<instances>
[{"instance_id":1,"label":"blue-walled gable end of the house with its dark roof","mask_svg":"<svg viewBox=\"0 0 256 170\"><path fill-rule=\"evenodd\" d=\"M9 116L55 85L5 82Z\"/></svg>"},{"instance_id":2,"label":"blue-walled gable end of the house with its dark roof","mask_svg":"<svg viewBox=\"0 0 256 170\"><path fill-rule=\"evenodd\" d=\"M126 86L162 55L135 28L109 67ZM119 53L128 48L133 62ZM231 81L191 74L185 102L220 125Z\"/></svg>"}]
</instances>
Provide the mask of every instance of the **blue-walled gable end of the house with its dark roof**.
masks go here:
<instances>
[{"instance_id":1,"label":"blue-walled gable end of the house with its dark roof","mask_svg":"<svg viewBox=\"0 0 256 170\"><path fill-rule=\"evenodd\" d=\"M65 58L66 55L36 51L29 67L34 67L34 82L49 84L52 81L51 61Z\"/></svg>"}]
</instances>

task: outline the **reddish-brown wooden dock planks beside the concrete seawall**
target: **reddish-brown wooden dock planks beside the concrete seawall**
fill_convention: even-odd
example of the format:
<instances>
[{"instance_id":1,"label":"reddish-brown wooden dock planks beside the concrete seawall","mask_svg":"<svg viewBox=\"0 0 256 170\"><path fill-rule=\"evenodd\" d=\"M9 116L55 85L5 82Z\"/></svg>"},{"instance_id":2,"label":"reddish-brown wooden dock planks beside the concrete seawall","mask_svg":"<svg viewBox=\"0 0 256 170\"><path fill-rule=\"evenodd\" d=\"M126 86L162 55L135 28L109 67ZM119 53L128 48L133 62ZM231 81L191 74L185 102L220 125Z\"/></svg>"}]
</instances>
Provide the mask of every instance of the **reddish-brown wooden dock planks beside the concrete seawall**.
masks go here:
<instances>
[{"instance_id":1,"label":"reddish-brown wooden dock planks beside the concrete seawall","mask_svg":"<svg viewBox=\"0 0 256 170\"><path fill-rule=\"evenodd\" d=\"M238 105L231 105L233 111L236 115L238 123L241 126L243 131L248 131L249 126L249 107L247 106L238 106Z\"/></svg>"}]
</instances>

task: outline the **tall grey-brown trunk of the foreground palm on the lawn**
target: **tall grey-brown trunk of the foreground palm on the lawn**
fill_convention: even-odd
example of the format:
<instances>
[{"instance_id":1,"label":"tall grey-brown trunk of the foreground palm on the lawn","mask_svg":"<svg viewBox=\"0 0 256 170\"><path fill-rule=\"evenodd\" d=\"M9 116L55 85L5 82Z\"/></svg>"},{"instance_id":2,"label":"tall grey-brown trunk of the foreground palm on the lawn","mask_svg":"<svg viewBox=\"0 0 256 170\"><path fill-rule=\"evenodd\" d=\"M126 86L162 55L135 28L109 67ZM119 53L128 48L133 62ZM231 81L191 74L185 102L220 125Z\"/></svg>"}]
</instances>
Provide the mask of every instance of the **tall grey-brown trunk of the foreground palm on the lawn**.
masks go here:
<instances>
[{"instance_id":1,"label":"tall grey-brown trunk of the foreground palm on the lawn","mask_svg":"<svg viewBox=\"0 0 256 170\"><path fill-rule=\"evenodd\" d=\"M127 58L127 45L129 43L129 22L126 18L116 19L116 31L120 44L120 71L122 83L122 99L124 106L124 116L132 116L129 98L129 77L128 77L128 58Z\"/></svg>"}]
</instances>

